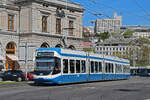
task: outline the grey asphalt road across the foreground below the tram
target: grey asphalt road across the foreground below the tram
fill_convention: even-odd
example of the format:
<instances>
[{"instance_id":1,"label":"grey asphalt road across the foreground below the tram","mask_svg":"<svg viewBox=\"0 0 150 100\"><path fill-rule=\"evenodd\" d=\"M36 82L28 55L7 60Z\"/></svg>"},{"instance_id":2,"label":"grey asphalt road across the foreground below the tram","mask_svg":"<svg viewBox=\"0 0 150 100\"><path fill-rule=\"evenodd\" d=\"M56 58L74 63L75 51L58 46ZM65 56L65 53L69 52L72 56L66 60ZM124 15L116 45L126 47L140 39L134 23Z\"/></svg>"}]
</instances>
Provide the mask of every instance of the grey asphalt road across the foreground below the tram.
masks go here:
<instances>
[{"instance_id":1,"label":"grey asphalt road across the foreground below the tram","mask_svg":"<svg viewBox=\"0 0 150 100\"><path fill-rule=\"evenodd\" d=\"M0 100L150 100L150 78L71 84L0 86Z\"/></svg>"}]
</instances>

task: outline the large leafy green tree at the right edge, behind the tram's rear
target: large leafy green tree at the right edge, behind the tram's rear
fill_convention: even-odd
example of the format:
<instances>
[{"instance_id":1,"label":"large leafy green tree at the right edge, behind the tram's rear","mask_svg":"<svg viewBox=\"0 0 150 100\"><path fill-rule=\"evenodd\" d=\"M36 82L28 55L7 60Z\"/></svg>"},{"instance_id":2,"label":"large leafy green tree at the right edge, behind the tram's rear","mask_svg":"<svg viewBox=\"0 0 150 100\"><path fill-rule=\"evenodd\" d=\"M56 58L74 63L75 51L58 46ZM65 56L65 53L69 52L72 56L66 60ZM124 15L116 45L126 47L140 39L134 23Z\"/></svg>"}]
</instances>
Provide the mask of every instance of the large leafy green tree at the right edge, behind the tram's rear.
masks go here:
<instances>
[{"instance_id":1,"label":"large leafy green tree at the right edge, behind the tram's rear","mask_svg":"<svg viewBox=\"0 0 150 100\"><path fill-rule=\"evenodd\" d=\"M133 65L133 60L136 61L136 66L150 65L150 41L146 38L139 38L135 42L131 43L129 50L130 57L128 59L131 65ZM136 59L134 58L134 54L136 54Z\"/></svg>"}]
</instances>

